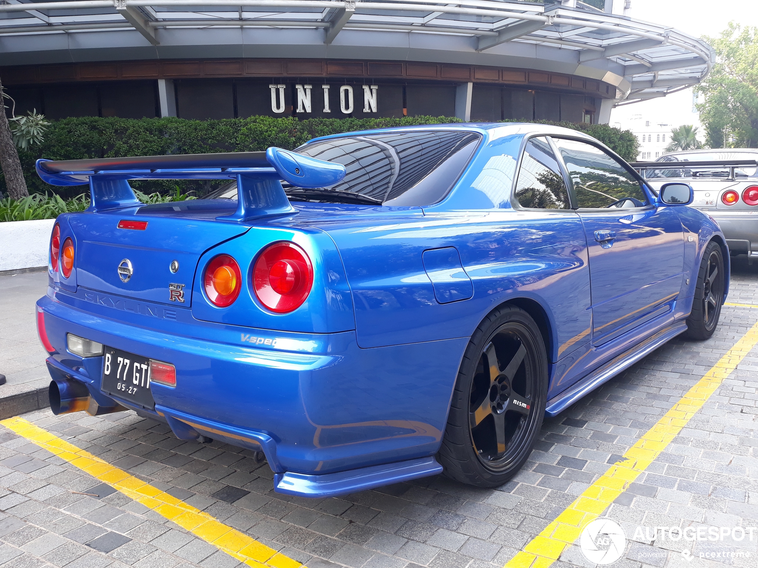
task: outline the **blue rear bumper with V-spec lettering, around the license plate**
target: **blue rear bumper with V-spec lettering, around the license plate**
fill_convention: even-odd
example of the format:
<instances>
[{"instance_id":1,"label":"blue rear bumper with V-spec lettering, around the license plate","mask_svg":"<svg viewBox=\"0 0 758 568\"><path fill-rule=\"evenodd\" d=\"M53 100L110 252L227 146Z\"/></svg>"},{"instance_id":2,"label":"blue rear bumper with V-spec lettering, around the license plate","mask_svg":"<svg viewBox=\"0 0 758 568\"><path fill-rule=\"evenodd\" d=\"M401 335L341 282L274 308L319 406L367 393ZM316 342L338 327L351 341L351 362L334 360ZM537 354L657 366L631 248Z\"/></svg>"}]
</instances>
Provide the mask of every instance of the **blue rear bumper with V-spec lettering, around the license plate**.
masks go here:
<instances>
[{"instance_id":1,"label":"blue rear bumper with V-spec lettering, around the license plate","mask_svg":"<svg viewBox=\"0 0 758 568\"><path fill-rule=\"evenodd\" d=\"M277 491L340 495L440 470L432 456L466 338L361 349L355 332L162 320L176 327L169 333L147 326L152 320L144 314L127 317L55 294L51 289L37 302L58 350L48 360L53 376L84 382L101 404L111 400L100 392L102 357L68 353L67 332L174 364L175 388L151 385L155 409L116 400L168 423L179 438L200 434L263 451Z\"/></svg>"}]
</instances>

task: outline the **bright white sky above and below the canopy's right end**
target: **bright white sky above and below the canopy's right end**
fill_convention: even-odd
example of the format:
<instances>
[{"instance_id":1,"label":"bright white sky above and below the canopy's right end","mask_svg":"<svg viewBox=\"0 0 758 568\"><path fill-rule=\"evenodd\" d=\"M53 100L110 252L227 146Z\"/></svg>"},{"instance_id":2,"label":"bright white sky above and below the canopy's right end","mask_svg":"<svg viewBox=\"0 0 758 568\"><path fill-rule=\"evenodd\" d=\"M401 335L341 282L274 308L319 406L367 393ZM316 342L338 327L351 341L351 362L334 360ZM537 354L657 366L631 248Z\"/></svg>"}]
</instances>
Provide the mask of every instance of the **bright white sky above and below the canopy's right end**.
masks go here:
<instances>
[{"instance_id":1,"label":"bright white sky above and below the canopy's right end","mask_svg":"<svg viewBox=\"0 0 758 568\"><path fill-rule=\"evenodd\" d=\"M631 0L628 16L662 23L690 36L718 36L731 20L758 26L758 0ZM633 120L635 115L642 115L643 120L650 120L651 124L697 126L697 112L692 112L692 106L692 89L685 89L666 97L614 108L610 123L631 129L634 123L639 123Z\"/></svg>"}]
</instances>

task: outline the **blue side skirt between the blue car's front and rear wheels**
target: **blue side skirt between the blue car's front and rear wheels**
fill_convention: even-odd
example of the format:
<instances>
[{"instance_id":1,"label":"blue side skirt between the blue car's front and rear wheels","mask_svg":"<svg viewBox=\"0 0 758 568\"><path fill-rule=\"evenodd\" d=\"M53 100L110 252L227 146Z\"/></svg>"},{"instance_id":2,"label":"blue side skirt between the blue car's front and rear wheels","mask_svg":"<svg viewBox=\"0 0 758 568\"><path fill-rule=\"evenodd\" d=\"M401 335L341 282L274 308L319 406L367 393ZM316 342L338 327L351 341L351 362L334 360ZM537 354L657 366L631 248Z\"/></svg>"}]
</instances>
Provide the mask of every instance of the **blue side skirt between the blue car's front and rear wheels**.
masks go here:
<instances>
[{"instance_id":1,"label":"blue side skirt between the blue car's front and rear wheels","mask_svg":"<svg viewBox=\"0 0 758 568\"><path fill-rule=\"evenodd\" d=\"M673 339L685 331L687 331L687 323L679 321L672 326L661 329L656 334L651 335L644 342L634 345L629 351L625 351L612 358L608 363L599 367L597 370L594 370L593 373L590 373L584 377L584 379L581 379L576 385L573 385L571 389L568 389L547 401L545 414L547 414L547 416L555 416L556 414L559 414L580 398L584 397L584 395L587 395L588 392L597 389L597 387L602 385L603 382L608 381L613 376L628 369L628 367L637 363L638 360L641 360L647 354L655 351L661 345L668 342L669 339Z\"/></svg>"}]
</instances>

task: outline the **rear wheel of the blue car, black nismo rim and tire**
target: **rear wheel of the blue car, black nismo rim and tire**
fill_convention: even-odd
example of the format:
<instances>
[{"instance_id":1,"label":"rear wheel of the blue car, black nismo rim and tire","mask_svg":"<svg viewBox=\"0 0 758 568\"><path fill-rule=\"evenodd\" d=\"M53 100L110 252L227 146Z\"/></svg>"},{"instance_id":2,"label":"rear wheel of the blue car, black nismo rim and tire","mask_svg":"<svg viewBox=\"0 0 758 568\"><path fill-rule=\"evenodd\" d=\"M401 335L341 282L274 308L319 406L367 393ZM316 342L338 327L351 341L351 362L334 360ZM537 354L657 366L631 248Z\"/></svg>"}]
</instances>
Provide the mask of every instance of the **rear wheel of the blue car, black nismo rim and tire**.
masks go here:
<instances>
[{"instance_id":1,"label":"rear wheel of the blue car, black nismo rim and tire","mask_svg":"<svg viewBox=\"0 0 758 568\"><path fill-rule=\"evenodd\" d=\"M445 475L477 487L503 485L531 454L546 403L540 329L527 312L504 304L479 324L463 355L437 455Z\"/></svg>"}]
</instances>

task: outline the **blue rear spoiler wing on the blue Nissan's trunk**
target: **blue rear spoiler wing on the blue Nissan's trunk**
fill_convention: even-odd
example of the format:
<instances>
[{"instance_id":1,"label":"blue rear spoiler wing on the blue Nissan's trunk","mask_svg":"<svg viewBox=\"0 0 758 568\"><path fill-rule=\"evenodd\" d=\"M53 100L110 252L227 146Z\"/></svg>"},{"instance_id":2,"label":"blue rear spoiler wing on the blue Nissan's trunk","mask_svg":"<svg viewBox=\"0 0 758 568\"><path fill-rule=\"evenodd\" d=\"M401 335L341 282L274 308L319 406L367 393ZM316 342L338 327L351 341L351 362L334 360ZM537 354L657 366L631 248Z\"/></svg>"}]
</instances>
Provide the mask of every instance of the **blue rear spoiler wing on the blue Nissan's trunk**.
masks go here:
<instances>
[{"instance_id":1,"label":"blue rear spoiler wing on the blue Nissan's trunk","mask_svg":"<svg viewBox=\"0 0 758 568\"><path fill-rule=\"evenodd\" d=\"M345 167L310 158L282 148L265 152L225 152L99 158L93 160L37 160L36 170L53 186L89 183L87 211L106 211L142 204L134 195L130 179L236 179L237 210L216 217L225 221L249 221L295 213L280 183L318 188L334 186L345 177Z\"/></svg>"}]
</instances>

